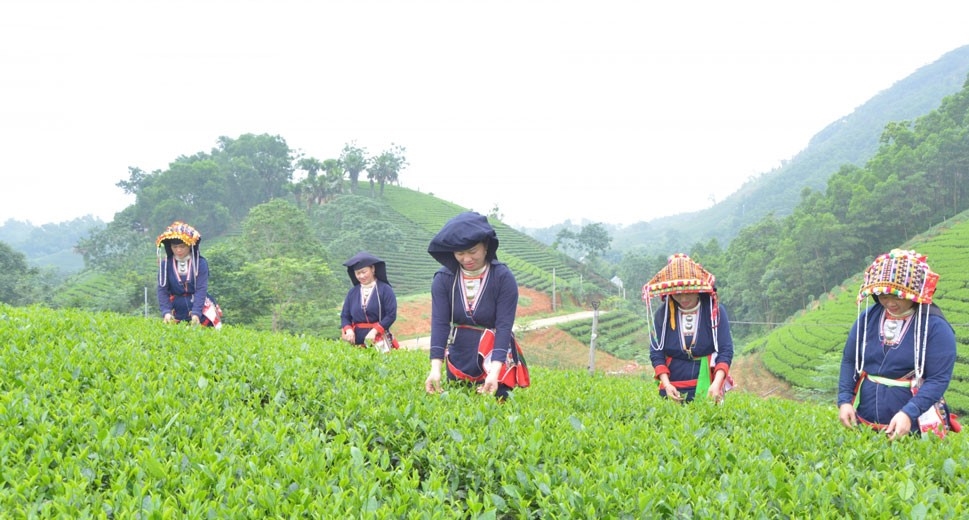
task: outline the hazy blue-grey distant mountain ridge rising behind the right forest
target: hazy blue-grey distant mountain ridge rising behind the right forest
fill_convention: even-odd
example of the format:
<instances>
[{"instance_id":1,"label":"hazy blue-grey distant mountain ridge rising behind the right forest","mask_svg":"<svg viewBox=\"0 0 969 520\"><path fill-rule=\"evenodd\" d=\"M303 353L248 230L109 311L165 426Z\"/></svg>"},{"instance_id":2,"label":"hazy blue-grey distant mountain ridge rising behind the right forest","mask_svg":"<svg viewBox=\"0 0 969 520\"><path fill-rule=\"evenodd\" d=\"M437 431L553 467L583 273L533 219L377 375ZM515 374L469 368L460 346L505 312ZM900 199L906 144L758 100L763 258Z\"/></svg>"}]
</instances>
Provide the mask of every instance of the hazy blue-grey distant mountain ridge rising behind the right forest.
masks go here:
<instances>
[{"instance_id":1,"label":"hazy blue-grey distant mountain ridge rising behind the right forest","mask_svg":"<svg viewBox=\"0 0 969 520\"><path fill-rule=\"evenodd\" d=\"M860 166L878 149L885 126L910 121L939 106L958 92L969 74L969 46L953 50L898 81L887 90L818 132L809 145L783 166L721 194L714 206L693 213L640 222L618 229L613 247L664 253L684 250L716 238L726 245L745 226L766 215L790 214L804 188L823 191L828 178L842 165ZM793 101L793 102L796 102ZM527 230L546 243L554 232Z\"/></svg>"}]
</instances>

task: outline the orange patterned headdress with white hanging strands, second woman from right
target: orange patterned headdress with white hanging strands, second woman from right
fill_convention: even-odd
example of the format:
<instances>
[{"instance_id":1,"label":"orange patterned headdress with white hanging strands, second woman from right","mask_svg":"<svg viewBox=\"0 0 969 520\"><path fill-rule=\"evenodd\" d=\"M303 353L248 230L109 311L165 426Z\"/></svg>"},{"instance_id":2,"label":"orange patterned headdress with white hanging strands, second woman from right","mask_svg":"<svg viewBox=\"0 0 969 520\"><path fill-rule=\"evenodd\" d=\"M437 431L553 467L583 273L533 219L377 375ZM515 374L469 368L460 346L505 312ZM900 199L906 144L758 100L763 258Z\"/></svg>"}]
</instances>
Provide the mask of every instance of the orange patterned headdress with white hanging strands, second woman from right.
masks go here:
<instances>
[{"instance_id":1,"label":"orange patterned headdress with white hanging strands, second woman from right","mask_svg":"<svg viewBox=\"0 0 969 520\"><path fill-rule=\"evenodd\" d=\"M670 255L666 259L666 266L643 285L643 301L646 302L649 317L652 347L656 350L662 350L667 323L673 330L676 330L676 303L669 296L685 293L708 294L710 296L710 326L713 332L713 345L714 350L719 351L717 325L719 324L720 309L717 301L716 277L684 253ZM663 334L661 337L656 336L656 324L653 323L653 298L666 300L666 307L669 311L663 313Z\"/></svg>"}]
</instances>

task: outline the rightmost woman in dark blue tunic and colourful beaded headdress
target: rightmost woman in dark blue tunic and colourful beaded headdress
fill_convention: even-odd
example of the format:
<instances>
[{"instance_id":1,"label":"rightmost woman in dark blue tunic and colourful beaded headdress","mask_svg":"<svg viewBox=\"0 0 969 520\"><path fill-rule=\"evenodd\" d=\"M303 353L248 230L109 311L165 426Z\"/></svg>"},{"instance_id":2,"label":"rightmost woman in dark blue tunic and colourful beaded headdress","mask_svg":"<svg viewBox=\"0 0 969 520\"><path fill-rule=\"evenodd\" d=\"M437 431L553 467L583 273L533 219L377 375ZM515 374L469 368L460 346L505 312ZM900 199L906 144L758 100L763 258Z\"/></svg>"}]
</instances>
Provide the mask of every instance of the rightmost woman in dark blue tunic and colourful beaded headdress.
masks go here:
<instances>
[{"instance_id":1,"label":"rightmost woman in dark blue tunic and colourful beaded headdress","mask_svg":"<svg viewBox=\"0 0 969 520\"><path fill-rule=\"evenodd\" d=\"M838 418L846 427L861 422L889 439L960 429L943 399L956 338L932 302L938 280L924 255L901 249L878 256L865 271L838 381Z\"/></svg>"}]
</instances>

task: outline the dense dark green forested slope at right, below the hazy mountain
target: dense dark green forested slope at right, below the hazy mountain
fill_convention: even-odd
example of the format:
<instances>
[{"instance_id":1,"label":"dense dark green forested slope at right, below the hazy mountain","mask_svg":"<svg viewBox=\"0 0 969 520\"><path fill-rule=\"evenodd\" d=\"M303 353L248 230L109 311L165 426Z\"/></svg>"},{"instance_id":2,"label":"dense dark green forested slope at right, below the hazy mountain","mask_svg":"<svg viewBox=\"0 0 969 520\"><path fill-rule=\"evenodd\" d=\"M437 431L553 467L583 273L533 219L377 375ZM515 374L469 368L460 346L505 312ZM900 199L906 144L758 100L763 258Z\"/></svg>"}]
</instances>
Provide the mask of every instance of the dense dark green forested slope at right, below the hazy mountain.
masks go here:
<instances>
[{"instance_id":1,"label":"dense dark green forested slope at right, below the hazy mountain","mask_svg":"<svg viewBox=\"0 0 969 520\"><path fill-rule=\"evenodd\" d=\"M969 210L967 181L969 85L913 122L886 125L871 159L840 168L824 191L805 188L789 215L744 227L725 248L708 241L684 250L717 274L732 320L769 327L876 255ZM665 256L627 252L619 267L624 283L645 283L659 268L656 256L661 266Z\"/></svg>"}]
</instances>

